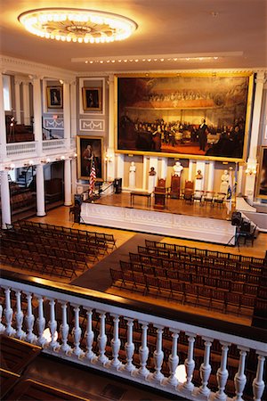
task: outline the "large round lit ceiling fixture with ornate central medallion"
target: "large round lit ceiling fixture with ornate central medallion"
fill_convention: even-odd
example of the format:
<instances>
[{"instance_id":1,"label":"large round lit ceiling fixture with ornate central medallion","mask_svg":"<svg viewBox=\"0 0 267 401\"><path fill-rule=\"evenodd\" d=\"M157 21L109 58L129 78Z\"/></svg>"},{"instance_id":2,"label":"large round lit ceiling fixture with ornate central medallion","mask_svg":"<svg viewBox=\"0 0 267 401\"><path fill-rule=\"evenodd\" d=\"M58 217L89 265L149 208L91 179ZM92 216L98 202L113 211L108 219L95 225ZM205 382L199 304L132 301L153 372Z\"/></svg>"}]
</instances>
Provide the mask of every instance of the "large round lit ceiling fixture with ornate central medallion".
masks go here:
<instances>
[{"instance_id":1,"label":"large round lit ceiling fixture with ornate central medallion","mask_svg":"<svg viewBox=\"0 0 267 401\"><path fill-rule=\"evenodd\" d=\"M137 24L122 15L76 8L42 8L18 17L28 32L47 39L109 43L130 37Z\"/></svg>"}]
</instances>

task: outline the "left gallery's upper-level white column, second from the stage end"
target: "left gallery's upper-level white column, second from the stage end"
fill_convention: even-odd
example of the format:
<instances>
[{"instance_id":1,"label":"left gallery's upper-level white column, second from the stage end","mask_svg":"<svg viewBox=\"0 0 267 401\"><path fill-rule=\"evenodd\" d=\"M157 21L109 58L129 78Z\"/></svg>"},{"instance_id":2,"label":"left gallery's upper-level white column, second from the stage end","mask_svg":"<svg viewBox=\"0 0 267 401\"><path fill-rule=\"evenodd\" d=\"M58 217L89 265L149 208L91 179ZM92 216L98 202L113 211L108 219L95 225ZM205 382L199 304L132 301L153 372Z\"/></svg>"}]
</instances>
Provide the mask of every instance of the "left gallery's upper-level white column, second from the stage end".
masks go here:
<instances>
[{"instance_id":1,"label":"left gallery's upper-level white column, second from the stage end","mask_svg":"<svg viewBox=\"0 0 267 401\"><path fill-rule=\"evenodd\" d=\"M24 86L23 86L24 87ZM43 153L43 123L42 123L42 97L41 79L33 78L33 110L34 110L34 134L36 141L36 152L38 156Z\"/></svg>"}]
</instances>

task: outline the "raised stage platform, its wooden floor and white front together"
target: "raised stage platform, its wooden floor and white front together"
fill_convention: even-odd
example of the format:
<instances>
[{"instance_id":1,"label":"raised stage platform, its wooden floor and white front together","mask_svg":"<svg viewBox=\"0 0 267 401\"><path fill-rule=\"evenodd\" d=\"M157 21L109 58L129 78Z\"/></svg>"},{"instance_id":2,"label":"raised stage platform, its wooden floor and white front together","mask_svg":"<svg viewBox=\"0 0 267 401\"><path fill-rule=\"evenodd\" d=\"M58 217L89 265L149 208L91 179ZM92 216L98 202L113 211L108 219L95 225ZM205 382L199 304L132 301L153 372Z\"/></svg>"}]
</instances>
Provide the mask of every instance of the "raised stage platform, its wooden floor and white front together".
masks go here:
<instances>
[{"instance_id":1,"label":"raised stage platform, its wooden floor and white front together","mask_svg":"<svg viewBox=\"0 0 267 401\"><path fill-rule=\"evenodd\" d=\"M235 245L236 227L227 219L227 209L197 202L168 200L166 209L158 211L142 198L131 206L130 193L112 194L83 202L81 223Z\"/></svg>"}]
</instances>

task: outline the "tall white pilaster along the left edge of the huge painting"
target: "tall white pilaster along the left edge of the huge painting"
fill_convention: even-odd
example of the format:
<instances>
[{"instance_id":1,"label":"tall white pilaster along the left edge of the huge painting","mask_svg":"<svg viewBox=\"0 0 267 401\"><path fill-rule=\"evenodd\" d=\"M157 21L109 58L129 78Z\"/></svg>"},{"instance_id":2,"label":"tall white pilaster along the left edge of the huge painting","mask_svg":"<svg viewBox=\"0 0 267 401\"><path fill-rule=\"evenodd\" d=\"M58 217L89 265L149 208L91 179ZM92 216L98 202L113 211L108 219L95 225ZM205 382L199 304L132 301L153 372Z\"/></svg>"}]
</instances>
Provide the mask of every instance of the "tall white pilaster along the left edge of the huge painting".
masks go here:
<instances>
[{"instance_id":1,"label":"tall white pilaster along the left edge of the huge painting","mask_svg":"<svg viewBox=\"0 0 267 401\"><path fill-rule=\"evenodd\" d=\"M114 75L109 74L109 135L108 135L108 150L107 154L109 156L109 162L107 163L107 176L109 181L113 181L115 178L115 154L114 154ZM104 88L103 88L104 89ZM104 94L103 94L104 95ZM103 110L105 111L105 110ZM117 178L124 176L117 176Z\"/></svg>"}]
</instances>

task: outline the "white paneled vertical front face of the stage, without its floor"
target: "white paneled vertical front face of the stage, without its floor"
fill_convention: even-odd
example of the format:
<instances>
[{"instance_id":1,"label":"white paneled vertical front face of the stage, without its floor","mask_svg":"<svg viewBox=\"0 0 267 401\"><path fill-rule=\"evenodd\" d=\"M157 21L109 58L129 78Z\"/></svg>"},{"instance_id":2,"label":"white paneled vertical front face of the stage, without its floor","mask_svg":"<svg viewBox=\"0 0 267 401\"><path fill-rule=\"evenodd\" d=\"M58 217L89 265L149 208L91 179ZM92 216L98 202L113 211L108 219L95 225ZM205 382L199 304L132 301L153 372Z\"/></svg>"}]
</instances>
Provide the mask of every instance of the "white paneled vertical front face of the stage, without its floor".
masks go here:
<instances>
[{"instance_id":1,"label":"white paneled vertical front face of the stage, without its floor","mask_svg":"<svg viewBox=\"0 0 267 401\"><path fill-rule=\"evenodd\" d=\"M235 244L236 227L231 221L172 213L83 203L81 223L158 233L197 241Z\"/></svg>"}]
</instances>

